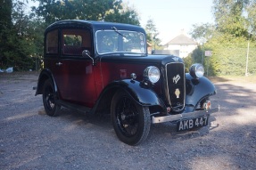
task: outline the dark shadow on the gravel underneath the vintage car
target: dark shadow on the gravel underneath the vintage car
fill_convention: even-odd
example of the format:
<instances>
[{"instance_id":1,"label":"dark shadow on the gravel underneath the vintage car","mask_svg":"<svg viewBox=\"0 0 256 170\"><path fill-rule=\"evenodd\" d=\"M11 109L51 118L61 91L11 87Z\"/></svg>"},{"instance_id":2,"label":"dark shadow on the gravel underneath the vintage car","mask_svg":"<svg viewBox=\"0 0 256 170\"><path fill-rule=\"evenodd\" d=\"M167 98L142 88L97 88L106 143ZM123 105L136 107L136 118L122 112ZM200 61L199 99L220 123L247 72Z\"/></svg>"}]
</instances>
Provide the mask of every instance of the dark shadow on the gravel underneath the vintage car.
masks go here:
<instances>
[{"instance_id":1,"label":"dark shadow on the gravel underneath the vintage car","mask_svg":"<svg viewBox=\"0 0 256 170\"><path fill-rule=\"evenodd\" d=\"M40 109L38 111L38 114L45 115L45 110L43 108ZM99 114L99 113L90 114L90 113L82 113L82 112L74 111L71 109L62 108L60 110L60 114L57 117L57 119L61 119L60 121L66 121L70 125L82 126L85 128L85 130L87 129L88 125L90 125L90 127L91 125L93 125L95 129L101 129L103 131L111 132L111 134L113 134L114 137L116 137L111 124L110 114ZM211 116L209 119L209 125L203 126L202 128L197 130L186 130L181 132L177 132L176 124L173 124L170 122L161 123L161 124L152 124L147 142L150 142L151 140L155 140L155 139L169 140L169 137L171 139L186 140L186 139L197 138L203 135L207 135L212 129L218 127L218 125L211 124L211 122L213 122L214 120L216 120L216 118ZM105 133L105 132L102 132L102 133Z\"/></svg>"}]
</instances>

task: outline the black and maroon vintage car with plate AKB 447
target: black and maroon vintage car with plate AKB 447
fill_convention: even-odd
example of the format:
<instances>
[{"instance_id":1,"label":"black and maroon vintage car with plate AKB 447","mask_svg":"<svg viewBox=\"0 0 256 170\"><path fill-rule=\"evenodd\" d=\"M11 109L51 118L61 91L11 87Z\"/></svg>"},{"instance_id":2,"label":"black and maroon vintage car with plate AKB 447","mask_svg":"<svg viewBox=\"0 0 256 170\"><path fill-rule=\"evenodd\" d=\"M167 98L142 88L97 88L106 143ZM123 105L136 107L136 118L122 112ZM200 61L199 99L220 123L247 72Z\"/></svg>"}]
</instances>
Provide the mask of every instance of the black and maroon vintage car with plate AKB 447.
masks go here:
<instances>
[{"instance_id":1,"label":"black and maroon vintage car with plate AKB 447","mask_svg":"<svg viewBox=\"0 0 256 170\"><path fill-rule=\"evenodd\" d=\"M110 113L121 142L144 142L151 124L177 130L208 125L215 86L201 64L147 53L145 29L128 24L62 20L45 29L44 68L37 82L45 112L61 107Z\"/></svg>"}]
</instances>

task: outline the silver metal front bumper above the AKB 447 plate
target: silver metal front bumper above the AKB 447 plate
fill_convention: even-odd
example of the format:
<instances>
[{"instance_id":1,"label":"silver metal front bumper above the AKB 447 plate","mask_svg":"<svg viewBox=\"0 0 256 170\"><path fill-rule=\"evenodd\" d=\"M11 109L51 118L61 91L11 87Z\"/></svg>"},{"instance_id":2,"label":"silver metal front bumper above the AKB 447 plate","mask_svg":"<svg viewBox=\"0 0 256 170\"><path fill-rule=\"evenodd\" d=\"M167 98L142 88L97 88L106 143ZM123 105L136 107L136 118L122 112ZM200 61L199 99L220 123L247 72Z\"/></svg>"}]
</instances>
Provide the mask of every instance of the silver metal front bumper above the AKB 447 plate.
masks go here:
<instances>
[{"instance_id":1,"label":"silver metal front bumper above the AKB 447 plate","mask_svg":"<svg viewBox=\"0 0 256 170\"><path fill-rule=\"evenodd\" d=\"M191 119L191 118L195 118L195 117L209 116L211 113L215 113L218 111L219 111L219 107L209 109L208 111L199 110L199 111L181 113L181 114L177 114L177 115L169 115L169 116L164 116L164 117L154 117L153 116L152 123L158 124L158 123L163 123L163 122L181 121L183 119Z\"/></svg>"}]
</instances>

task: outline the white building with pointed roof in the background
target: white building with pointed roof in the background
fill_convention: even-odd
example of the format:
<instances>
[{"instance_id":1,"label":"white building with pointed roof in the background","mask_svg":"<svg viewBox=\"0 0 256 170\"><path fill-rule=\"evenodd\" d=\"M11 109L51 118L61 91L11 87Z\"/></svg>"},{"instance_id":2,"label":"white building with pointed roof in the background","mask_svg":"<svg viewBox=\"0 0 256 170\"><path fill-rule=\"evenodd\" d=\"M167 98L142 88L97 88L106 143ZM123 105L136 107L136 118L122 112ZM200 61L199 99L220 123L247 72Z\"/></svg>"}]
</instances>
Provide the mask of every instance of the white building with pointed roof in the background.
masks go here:
<instances>
[{"instance_id":1,"label":"white building with pointed roof in the background","mask_svg":"<svg viewBox=\"0 0 256 170\"><path fill-rule=\"evenodd\" d=\"M184 33L179 36L174 37L164 46L164 51L179 51L178 57L186 58L189 53L192 53L194 49L197 48L198 43L192 38L184 35Z\"/></svg>"}]
</instances>

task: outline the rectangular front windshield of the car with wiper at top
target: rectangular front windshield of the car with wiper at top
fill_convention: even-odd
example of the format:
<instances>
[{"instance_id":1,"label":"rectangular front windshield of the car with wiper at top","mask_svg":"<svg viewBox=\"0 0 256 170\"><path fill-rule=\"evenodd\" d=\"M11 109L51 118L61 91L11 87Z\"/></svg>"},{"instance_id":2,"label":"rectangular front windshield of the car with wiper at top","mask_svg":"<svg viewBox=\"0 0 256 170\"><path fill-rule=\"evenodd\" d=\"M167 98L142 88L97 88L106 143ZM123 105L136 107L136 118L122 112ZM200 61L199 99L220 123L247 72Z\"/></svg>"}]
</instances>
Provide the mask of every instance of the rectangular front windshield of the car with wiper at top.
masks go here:
<instances>
[{"instance_id":1,"label":"rectangular front windshield of the car with wiper at top","mask_svg":"<svg viewBox=\"0 0 256 170\"><path fill-rule=\"evenodd\" d=\"M98 30L96 32L97 53L145 54L145 34L128 30Z\"/></svg>"}]
</instances>

